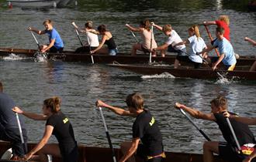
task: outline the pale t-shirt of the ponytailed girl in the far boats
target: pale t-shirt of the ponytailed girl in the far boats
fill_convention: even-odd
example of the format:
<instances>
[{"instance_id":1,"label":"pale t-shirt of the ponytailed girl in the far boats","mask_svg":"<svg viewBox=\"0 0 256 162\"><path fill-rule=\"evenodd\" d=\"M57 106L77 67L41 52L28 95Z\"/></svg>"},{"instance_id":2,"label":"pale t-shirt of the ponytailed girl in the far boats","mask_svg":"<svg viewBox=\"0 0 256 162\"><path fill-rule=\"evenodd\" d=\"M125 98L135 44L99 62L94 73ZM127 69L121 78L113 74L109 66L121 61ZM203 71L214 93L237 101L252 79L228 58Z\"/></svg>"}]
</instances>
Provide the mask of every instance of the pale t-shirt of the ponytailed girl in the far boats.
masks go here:
<instances>
[{"instance_id":1,"label":"pale t-shirt of the ponytailed girl in the far boats","mask_svg":"<svg viewBox=\"0 0 256 162\"><path fill-rule=\"evenodd\" d=\"M191 59L193 62L199 62L202 63L202 55L197 56L196 52L202 52L202 49L206 48L206 43L204 40L199 37L197 38L195 35L192 35L189 37L189 42L191 46L191 52L189 53L189 59Z\"/></svg>"}]
</instances>

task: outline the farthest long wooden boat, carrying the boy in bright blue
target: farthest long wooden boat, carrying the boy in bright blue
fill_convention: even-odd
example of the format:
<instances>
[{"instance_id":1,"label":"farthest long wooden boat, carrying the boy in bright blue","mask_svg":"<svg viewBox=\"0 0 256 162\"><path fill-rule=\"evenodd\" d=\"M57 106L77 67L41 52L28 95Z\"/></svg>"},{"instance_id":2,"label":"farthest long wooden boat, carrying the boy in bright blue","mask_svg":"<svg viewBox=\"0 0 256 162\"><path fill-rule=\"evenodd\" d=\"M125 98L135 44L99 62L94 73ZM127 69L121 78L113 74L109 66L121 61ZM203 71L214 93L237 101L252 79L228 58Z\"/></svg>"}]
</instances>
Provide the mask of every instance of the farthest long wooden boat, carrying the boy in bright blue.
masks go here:
<instances>
[{"instance_id":1,"label":"farthest long wooden boat, carrying the boy in bright blue","mask_svg":"<svg viewBox=\"0 0 256 162\"><path fill-rule=\"evenodd\" d=\"M9 56L9 54L14 53L21 57L34 57L36 49L12 49L12 48L0 48L0 58ZM167 64L173 64L175 62L176 55L168 55L166 57L152 57L152 62L163 62ZM51 60L61 60L64 62L87 62L92 63L91 55L79 54L71 51L65 51L63 53L49 53L47 54L47 59ZM116 56L95 54L93 55L95 63L147 63L149 62L149 55L137 55L130 56L130 54L118 53ZM210 59L216 59L216 56L210 57ZM254 56L240 56L237 59L237 66L251 66L256 57Z\"/></svg>"}]
</instances>

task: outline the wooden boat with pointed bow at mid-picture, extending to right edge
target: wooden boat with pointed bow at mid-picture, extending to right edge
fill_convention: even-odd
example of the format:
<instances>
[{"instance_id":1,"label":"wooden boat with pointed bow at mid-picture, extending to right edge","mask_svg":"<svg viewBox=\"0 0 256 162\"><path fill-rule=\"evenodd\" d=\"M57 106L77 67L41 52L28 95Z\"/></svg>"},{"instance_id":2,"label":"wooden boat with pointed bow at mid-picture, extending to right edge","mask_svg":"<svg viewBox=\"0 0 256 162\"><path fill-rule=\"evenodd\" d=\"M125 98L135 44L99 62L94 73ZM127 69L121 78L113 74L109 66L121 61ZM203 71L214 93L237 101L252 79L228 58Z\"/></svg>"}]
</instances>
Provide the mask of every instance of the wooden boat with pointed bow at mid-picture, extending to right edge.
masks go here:
<instances>
[{"instance_id":1,"label":"wooden boat with pointed bow at mid-picture, extending to right edge","mask_svg":"<svg viewBox=\"0 0 256 162\"><path fill-rule=\"evenodd\" d=\"M145 66L145 65L126 65L126 64L109 64L109 66L117 67L119 69L125 69L134 73L143 75L154 75L161 73L170 73L172 76L181 78L195 78L195 79L217 79L220 78L220 73L227 79L245 79L245 80L256 80L256 72L249 72L248 69L236 69L234 71L227 72L226 70L218 69L192 69L181 67L174 69L169 66Z\"/></svg>"}]
</instances>

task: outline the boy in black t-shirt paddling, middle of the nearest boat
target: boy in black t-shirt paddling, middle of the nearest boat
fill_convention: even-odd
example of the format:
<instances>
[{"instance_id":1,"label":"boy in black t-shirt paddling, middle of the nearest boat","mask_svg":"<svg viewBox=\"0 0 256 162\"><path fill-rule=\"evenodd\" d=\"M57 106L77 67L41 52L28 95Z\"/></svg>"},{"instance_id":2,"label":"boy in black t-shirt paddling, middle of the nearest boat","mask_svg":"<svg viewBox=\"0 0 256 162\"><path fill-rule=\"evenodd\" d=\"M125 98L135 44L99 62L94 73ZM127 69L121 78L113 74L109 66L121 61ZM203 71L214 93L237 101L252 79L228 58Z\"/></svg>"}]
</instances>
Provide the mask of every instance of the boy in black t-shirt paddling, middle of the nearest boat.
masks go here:
<instances>
[{"instance_id":1,"label":"boy in black t-shirt paddling, middle of the nearest boat","mask_svg":"<svg viewBox=\"0 0 256 162\"><path fill-rule=\"evenodd\" d=\"M96 102L96 106L106 107L120 116L136 117L133 123L133 140L121 143L123 157L119 162L135 162L134 153L146 161L160 162L165 157L161 132L157 121L148 110L144 109L143 96L140 93L132 93L126 97L126 104L128 110L109 106L101 100Z\"/></svg>"}]
</instances>

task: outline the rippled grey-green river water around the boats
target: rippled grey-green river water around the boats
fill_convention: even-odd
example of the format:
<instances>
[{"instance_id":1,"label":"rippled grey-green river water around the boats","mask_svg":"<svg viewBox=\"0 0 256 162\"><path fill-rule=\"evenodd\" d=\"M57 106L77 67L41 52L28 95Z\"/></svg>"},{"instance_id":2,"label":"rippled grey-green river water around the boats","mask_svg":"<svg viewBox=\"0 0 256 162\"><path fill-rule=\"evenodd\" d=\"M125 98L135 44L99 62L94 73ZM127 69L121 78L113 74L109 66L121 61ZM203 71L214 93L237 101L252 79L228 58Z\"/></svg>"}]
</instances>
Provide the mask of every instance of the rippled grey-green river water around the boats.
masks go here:
<instances>
[{"instance_id":1,"label":"rippled grey-green river water around the boats","mask_svg":"<svg viewBox=\"0 0 256 162\"><path fill-rule=\"evenodd\" d=\"M84 25L92 20L95 26L106 24L115 35L120 52L130 52L135 40L125 28L125 23L137 25L141 19L152 19L156 24L171 24L183 39L188 37L190 25L214 20L219 15L230 16L230 37L234 49L240 55L253 56L254 47L244 42L244 36L256 39L256 13L247 12L242 5L225 1L78 1L77 7L50 9L8 9L0 2L0 46L35 49L28 26L43 29L43 20L52 19L61 33L65 49L79 46L71 22ZM242 7L241 7L242 6ZM200 26L202 38L209 38ZM213 33L214 27L209 28ZM155 32L157 43L166 39L161 32ZM46 36L36 38L47 43ZM81 35L81 39L86 37ZM214 53L212 53L214 55ZM60 96L62 111L70 118L75 137L79 143L88 146L108 147L105 130L95 107L96 100L104 100L115 106L125 107L126 95L140 92L144 95L147 109L159 123L164 139L164 149L175 152L202 153L205 139L192 124L173 107L175 102L185 103L199 110L209 112L209 101L222 94L229 100L231 111L241 116L256 116L255 82L218 80L175 79L168 75L140 76L104 65L89 65L78 62L34 62L32 59L0 60L0 79L5 93L26 111L41 113L43 100ZM103 110L114 147L123 140L131 139L134 119L116 116ZM216 123L195 120L212 140L223 140ZM36 142L43 136L44 122L26 119L29 141ZM255 127L251 127L256 134ZM54 137L50 139L56 141Z\"/></svg>"}]
</instances>

